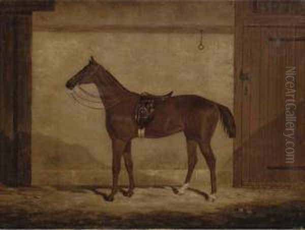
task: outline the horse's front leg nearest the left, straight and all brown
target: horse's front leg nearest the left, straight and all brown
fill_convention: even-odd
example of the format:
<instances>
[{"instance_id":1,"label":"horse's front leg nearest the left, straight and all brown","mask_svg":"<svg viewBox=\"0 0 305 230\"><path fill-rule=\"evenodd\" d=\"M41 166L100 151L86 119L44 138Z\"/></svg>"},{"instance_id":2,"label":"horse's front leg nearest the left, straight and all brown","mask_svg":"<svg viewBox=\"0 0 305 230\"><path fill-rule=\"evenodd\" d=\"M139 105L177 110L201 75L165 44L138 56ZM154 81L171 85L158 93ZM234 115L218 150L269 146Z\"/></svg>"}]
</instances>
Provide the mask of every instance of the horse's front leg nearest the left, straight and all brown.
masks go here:
<instances>
[{"instance_id":1,"label":"horse's front leg nearest the left, straight and all brown","mask_svg":"<svg viewBox=\"0 0 305 230\"><path fill-rule=\"evenodd\" d=\"M108 201L114 200L114 195L118 190L118 175L120 171L121 157L126 148L126 144L126 141L120 139L112 140L112 189L111 193L107 197Z\"/></svg>"}]
</instances>

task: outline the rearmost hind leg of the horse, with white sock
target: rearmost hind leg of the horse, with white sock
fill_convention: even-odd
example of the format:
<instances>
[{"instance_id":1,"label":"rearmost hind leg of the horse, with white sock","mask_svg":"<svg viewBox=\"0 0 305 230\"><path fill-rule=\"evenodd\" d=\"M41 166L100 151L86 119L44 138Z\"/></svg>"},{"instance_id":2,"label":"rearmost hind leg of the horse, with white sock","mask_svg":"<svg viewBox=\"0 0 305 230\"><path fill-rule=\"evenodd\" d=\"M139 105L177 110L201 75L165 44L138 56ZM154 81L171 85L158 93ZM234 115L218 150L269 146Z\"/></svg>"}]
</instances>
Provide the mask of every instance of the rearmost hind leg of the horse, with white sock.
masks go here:
<instances>
[{"instance_id":1,"label":"rearmost hind leg of the horse, with white sock","mask_svg":"<svg viewBox=\"0 0 305 230\"><path fill-rule=\"evenodd\" d=\"M210 201L214 201L216 199L216 158L212 151L209 141L203 141L198 143L201 153L204 156L207 166L210 171L210 178L211 178L211 194L209 196Z\"/></svg>"}]
</instances>

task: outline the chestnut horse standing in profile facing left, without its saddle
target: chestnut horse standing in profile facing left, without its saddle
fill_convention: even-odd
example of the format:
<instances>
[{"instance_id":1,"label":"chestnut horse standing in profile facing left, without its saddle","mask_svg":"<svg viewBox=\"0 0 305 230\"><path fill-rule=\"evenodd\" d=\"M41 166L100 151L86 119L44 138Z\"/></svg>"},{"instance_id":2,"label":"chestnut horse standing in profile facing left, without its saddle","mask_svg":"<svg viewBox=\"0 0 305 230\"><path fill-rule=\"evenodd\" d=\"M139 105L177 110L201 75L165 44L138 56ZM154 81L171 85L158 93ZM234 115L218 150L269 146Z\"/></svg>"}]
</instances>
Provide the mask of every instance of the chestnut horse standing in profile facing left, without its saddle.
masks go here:
<instances>
[{"instance_id":1,"label":"chestnut horse standing in profile facing left, without its saddle","mask_svg":"<svg viewBox=\"0 0 305 230\"><path fill-rule=\"evenodd\" d=\"M98 64L93 57L76 75L69 79L66 87L73 90L76 85L93 83L105 107L106 129L112 141L112 190L107 200L112 201L118 191L118 175L123 156L129 176L129 188L124 195L131 197L135 188L131 141L139 137L134 114L140 94L127 90ZM210 170L211 194L216 198L216 159L210 141L219 118L230 138L235 137L234 118L223 105L196 95L178 95L166 100L156 100L155 117L145 129L146 138L165 137L184 132L187 141L188 172L184 185L178 189L182 194L188 188L194 167L197 163L196 148L199 146Z\"/></svg>"}]
</instances>

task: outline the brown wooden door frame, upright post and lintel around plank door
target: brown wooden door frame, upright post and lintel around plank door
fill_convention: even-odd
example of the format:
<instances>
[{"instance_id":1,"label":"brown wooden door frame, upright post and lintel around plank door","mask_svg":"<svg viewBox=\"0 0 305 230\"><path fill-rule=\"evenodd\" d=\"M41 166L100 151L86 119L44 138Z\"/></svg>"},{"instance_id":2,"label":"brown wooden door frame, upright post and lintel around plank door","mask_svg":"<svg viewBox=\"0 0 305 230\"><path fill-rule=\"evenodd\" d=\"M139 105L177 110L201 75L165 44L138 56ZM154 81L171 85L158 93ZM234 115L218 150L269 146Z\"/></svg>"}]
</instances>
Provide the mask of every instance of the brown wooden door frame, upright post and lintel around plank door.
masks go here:
<instances>
[{"instance_id":1,"label":"brown wooden door frame, upright post and lintel around plank door","mask_svg":"<svg viewBox=\"0 0 305 230\"><path fill-rule=\"evenodd\" d=\"M280 1L280 0L274 0ZM234 48L234 117L236 138L233 153L233 187L259 186L257 183L242 183L242 73L243 28L244 26L305 26L304 15L267 15L253 11L254 1L235 2L235 48Z\"/></svg>"}]
</instances>

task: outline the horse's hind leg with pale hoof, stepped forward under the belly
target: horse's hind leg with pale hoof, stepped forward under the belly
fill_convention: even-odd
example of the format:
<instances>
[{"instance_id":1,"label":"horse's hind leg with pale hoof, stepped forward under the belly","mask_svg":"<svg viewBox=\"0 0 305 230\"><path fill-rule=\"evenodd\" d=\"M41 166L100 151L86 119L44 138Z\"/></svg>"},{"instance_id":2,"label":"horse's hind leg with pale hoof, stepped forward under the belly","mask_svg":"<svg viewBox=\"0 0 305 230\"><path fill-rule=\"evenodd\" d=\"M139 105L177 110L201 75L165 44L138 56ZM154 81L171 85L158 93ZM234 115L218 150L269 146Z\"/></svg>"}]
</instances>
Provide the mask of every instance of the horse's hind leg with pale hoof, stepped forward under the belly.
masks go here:
<instances>
[{"instance_id":1,"label":"horse's hind leg with pale hoof, stepped forward under the belly","mask_svg":"<svg viewBox=\"0 0 305 230\"><path fill-rule=\"evenodd\" d=\"M188 150L188 173L187 173L187 177L185 180L185 183L183 186L181 186L178 189L178 194L184 194L185 190L189 187L189 183L191 181L192 178L192 174L194 171L194 168L196 166L197 163L197 152L196 152L196 148L197 148L197 142L194 140L188 140L187 139L187 150Z\"/></svg>"}]
</instances>

